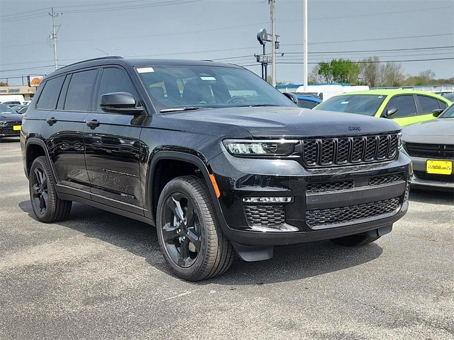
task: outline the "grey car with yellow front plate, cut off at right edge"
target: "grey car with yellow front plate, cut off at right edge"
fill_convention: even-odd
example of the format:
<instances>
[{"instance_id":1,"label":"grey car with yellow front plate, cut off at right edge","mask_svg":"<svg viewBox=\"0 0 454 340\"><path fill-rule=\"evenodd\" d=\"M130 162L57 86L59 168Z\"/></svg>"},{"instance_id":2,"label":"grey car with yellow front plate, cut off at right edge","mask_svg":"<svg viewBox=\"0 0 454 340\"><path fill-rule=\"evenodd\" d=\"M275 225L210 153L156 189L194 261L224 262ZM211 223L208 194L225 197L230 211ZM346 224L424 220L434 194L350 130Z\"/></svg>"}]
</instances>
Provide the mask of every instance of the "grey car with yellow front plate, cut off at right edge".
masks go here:
<instances>
[{"instance_id":1,"label":"grey car with yellow front plate, cut off at right edge","mask_svg":"<svg viewBox=\"0 0 454 340\"><path fill-rule=\"evenodd\" d=\"M441 110L440 110L441 111ZM411 185L436 190L454 189L454 104L433 121L402 130L405 152L413 163Z\"/></svg>"}]
</instances>

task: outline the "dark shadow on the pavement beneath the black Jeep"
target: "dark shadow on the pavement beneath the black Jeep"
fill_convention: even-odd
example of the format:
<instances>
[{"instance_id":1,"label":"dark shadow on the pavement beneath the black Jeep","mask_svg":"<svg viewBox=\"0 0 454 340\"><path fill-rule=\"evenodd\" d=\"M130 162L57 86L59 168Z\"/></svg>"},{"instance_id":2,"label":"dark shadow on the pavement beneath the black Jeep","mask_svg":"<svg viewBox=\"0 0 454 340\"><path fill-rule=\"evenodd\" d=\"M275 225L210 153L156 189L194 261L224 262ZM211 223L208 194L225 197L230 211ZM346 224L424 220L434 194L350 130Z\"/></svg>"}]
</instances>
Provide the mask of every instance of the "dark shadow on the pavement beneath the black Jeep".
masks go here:
<instances>
[{"instance_id":1,"label":"dark shadow on the pavement beneath the black Jeep","mask_svg":"<svg viewBox=\"0 0 454 340\"><path fill-rule=\"evenodd\" d=\"M29 201L20 202L19 207L36 219ZM156 229L146 223L73 203L69 219L55 224L122 247L175 277L160 253ZM262 285L292 281L361 265L376 259L381 253L382 248L376 243L342 247L326 241L278 246L271 260L248 263L237 259L224 275L195 284Z\"/></svg>"}]
</instances>

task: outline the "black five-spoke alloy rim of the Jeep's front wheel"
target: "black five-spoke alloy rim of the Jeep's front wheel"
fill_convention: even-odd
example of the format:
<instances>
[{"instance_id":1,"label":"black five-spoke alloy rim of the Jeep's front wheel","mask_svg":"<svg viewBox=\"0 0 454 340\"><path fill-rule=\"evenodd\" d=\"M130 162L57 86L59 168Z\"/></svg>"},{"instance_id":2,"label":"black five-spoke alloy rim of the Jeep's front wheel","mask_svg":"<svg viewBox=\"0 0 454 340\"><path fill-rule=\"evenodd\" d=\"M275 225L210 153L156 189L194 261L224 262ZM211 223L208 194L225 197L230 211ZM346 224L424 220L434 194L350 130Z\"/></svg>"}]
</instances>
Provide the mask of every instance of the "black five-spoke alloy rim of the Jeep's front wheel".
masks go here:
<instances>
[{"instance_id":1,"label":"black five-spoke alloy rim of the Jeep's front wheel","mask_svg":"<svg viewBox=\"0 0 454 340\"><path fill-rule=\"evenodd\" d=\"M173 193L164 203L163 219L162 236L169 256L180 267L192 266L202 237L194 204L185 194Z\"/></svg>"}]
</instances>

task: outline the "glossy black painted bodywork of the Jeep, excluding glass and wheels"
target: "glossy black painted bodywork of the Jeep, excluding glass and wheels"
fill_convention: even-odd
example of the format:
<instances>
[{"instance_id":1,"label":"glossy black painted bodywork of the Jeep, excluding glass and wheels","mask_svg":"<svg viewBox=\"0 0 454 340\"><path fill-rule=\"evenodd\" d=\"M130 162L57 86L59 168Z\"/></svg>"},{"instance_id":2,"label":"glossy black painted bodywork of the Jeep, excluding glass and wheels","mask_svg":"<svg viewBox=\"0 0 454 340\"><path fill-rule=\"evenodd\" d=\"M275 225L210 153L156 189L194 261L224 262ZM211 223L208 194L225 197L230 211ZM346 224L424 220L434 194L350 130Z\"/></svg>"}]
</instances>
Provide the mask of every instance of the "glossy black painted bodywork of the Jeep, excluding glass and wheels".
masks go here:
<instances>
[{"instance_id":1,"label":"glossy black painted bodywork of the Jeep, excluding glass and wheels","mask_svg":"<svg viewBox=\"0 0 454 340\"><path fill-rule=\"evenodd\" d=\"M36 101L41 88L30 104L22 125L21 146L27 173L29 150L45 145L45 154L64 199L91 204L115 213L154 224L156 202L155 179L181 169L158 167L166 160L179 161L175 167L190 164L196 174L205 179L212 194L214 209L224 234L237 245L274 245L325 240L381 227L388 227L403 216L407 209L405 185L392 187L401 200L399 211L392 217L368 222L357 222L346 227L312 230L305 223L306 209L317 207L308 201L305 189L310 183L354 179L366 183L374 175L403 172L409 178L409 158L403 154L392 161L308 170L301 160L301 148L289 157L240 158L230 155L222 144L224 139L296 139L307 137L342 137L377 135L400 131L391 120L378 120L361 115L312 111L295 106L231 107L195 110L178 113L156 113L135 67L152 65L218 65L238 66L201 61L125 60L100 58L70 65L50 74L46 79L84 69L105 66L122 68L137 89L138 100L144 111L136 114L100 112L93 98L91 110L64 111L64 90L58 99L58 109L37 110ZM97 84L101 72L98 73ZM349 126L359 126L351 131ZM37 143L42 141L43 143ZM37 151L34 151L37 152ZM184 162L184 163L183 163ZM28 175L28 173L27 173ZM210 181L214 175L220 189L217 198ZM385 193L380 189L376 193ZM358 202L360 195L373 189L357 190L348 194L319 195L323 207L348 205ZM358 194L356 194L358 193ZM379 194L376 199L380 199ZM378 195L378 196L377 196ZM293 232L251 231L244 214L243 197L292 196L285 204L286 223L296 228ZM328 198L327 198L328 197ZM309 202L309 203L308 203Z\"/></svg>"}]
</instances>

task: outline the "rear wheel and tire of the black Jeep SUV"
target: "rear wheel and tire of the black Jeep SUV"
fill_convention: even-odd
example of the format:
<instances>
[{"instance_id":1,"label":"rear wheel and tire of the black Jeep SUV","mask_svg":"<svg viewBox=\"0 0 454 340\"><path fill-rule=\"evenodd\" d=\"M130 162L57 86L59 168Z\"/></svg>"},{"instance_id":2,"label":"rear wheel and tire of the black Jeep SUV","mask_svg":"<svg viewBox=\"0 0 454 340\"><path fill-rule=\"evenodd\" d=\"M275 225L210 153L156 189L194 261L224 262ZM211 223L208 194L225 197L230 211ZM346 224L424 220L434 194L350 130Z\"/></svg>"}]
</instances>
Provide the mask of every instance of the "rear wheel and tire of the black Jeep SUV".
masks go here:
<instances>
[{"instance_id":1,"label":"rear wheel and tire of the black Jeep SUV","mask_svg":"<svg viewBox=\"0 0 454 340\"><path fill-rule=\"evenodd\" d=\"M72 201L58 198L51 166L47 157L37 157L28 175L31 207L41 222L56 222L67 219Z\"/></svg>"}]
</instances>

